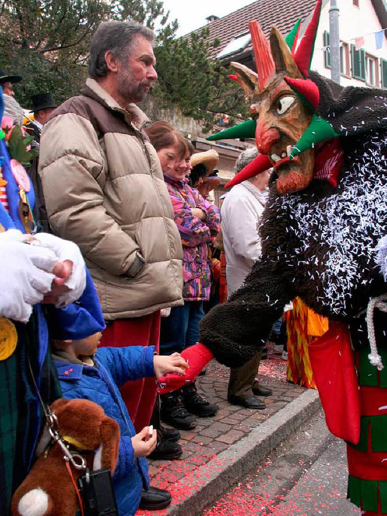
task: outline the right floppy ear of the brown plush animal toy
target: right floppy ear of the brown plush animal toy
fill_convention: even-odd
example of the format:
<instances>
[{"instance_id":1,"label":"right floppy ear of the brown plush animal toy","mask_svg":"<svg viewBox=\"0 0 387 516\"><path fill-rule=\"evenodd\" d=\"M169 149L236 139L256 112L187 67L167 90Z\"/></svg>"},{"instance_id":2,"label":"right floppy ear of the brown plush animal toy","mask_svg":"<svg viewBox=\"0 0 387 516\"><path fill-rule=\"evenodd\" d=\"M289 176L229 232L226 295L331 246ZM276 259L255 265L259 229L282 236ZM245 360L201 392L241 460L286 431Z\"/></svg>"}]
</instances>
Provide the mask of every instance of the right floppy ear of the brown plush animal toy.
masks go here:
<instances>
[{"instance_id":1,"label":"right floppy ear of the brown plush animal toy","mask_svg":"<svg viewBox=\"0 0 387 516\"><path fill-rule=\"evenodd\" d=\"M101 445L94 455L93 471L110 469L112 476L118 462L120 431L118 423L104 416L100 426Z\"/></svg>"}]
</instances>

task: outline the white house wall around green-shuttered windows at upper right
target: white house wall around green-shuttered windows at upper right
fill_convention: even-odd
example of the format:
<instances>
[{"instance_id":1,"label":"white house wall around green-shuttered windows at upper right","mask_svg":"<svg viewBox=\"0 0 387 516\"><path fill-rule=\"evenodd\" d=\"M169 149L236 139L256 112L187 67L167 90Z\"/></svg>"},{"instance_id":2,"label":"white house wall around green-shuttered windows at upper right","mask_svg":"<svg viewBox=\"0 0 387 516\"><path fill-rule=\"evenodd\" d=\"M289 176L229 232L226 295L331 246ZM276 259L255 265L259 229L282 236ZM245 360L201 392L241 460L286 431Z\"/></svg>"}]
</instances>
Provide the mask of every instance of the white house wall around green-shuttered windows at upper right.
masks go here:
<instances>
[{"instance_id":1,"label":"white house wall around green-shuttered windows at upper right","mask_svg":"<svg viewBox=\"0 0 387 516\"><path fill-rule=\"evenodd\" d=\"M380 0L377 0L380 1ZM340 9L339 11L339 35L340 41L344 41L350 45L354 44L355 41L352 38L358 36L365 36L369 33L374 33L376 31L381 30L382 27L380 25L379 19L376 15L374 7L371 3L371 0L359 0L359 7L355 7L353 5L353 0L337 0L337 5ZM312 70L317 70L321 75L326 77L331 76L331 70L326 68L324 64L324 52L321 50L323 47L323 33L324 30L329 32L329 7L330 2L322 8L320 24L317 32L316 44L315 44L315 52L312 60ZM303 27L302 27L303 28ZM376 41L375 35L370 34L369 36L364 37L364 46L363 46L366 54L370 54L378 58L378 67L379 67L379 84L378 87L381 88L381 70L380 70L380 58L387 59L387 39L385 36L383 37L383 45L380 50L376 50ZM350 62L350 56L349 56ZM350 69L351 74L351 69ZM341 76L340 84L343 86L366 86L364 81L359 79L354 79L349 76Z\"/></svg>"}]
</instances>

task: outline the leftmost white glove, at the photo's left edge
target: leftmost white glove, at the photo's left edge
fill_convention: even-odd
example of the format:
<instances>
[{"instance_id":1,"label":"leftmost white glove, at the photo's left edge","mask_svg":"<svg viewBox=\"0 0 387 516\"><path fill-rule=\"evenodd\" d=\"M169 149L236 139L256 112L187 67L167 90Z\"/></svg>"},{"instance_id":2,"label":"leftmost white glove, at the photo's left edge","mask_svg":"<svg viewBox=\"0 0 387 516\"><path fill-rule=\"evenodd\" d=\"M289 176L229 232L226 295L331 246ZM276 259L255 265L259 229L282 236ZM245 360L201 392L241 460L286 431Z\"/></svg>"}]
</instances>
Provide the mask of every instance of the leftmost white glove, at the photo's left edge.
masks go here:
<instances>
[{"instance_id":1,"label":"leftmost white glove, at the photo's left edge","mask_svg":"<svg viewBox=\"0 0 387 516\"><path fill-rule=\"evenodd\" d=\"M51 291L55 278L52 271L58 259L50 249L12 241L10 237L0 238L0 316L27 322L32 305Z\"/></svg>"}]
</instances>

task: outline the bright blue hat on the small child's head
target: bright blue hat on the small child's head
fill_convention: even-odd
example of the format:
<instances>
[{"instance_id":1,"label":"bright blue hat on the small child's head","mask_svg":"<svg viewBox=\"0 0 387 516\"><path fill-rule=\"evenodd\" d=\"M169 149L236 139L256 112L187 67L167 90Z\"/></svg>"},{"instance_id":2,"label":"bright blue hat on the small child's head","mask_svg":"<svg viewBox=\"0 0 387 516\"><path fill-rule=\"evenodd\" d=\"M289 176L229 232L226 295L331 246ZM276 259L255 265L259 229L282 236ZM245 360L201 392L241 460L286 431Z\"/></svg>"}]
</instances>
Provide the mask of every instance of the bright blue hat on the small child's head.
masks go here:
<instances>
[{"instance_id":1,"label":"bright blue hat on the small child's head","mask_svg":"<svg viewBox=\"0 0 387 516\"><path fill-rule=\"evenodd\" d=\"M105 329L96 287L86 268L86 287L82 296L68 307L52 309L49 314L51 337L57 340L80 340Z\"/></svg>"}]
</instances>

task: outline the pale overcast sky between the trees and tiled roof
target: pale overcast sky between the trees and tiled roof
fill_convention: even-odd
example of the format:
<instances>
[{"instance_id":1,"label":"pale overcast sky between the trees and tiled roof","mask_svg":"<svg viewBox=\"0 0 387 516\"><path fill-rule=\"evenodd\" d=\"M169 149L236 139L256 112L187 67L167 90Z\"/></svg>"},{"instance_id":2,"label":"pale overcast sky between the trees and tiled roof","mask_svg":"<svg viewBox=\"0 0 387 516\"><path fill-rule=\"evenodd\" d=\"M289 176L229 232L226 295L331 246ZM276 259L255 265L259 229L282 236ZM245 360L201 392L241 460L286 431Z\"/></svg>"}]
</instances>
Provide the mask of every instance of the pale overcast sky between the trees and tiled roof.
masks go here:
<instances>
[{"instance_id":1,"label":"pale overcast sky between the trees and tiled roof","mask_svg":"<svg viewBox=\"0 0 387 516\"><path fill-rule=\"evenodd\" d=\"M215 14L221 18L240 7L253 3L253 0L163 0L165 10L169 10L169 19L177 18L178 36L183 36L203 25L206 18Z\"/></svg>"}]
</instances>

